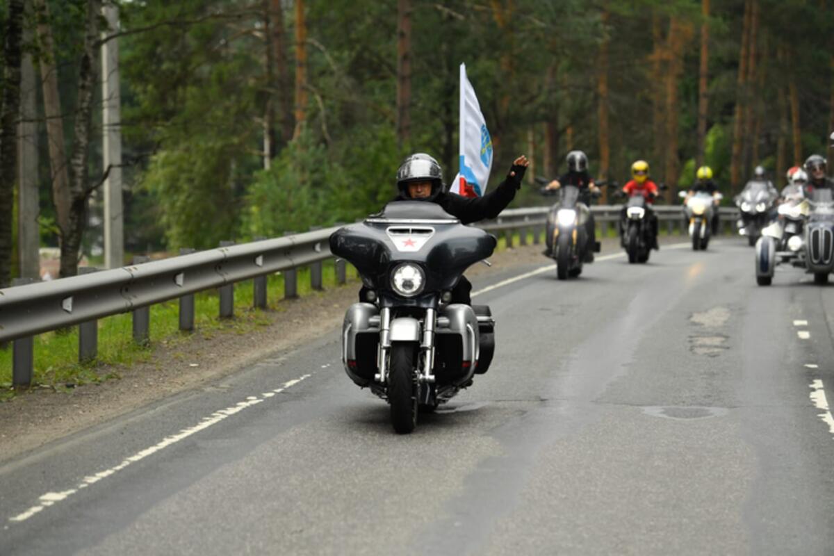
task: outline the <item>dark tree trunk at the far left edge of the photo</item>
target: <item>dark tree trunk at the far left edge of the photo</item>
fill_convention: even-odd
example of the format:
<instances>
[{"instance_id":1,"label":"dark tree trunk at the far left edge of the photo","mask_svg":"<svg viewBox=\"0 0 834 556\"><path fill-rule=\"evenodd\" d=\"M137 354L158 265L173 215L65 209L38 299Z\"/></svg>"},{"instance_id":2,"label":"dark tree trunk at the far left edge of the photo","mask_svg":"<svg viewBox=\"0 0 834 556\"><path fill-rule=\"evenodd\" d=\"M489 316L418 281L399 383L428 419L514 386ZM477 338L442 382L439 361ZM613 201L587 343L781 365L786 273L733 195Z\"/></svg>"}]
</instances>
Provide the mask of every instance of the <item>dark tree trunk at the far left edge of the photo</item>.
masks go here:
<instances>
[{"instance_id":1,"label":"dark tree trunk at the far left edge of the photo","mask_svg":"<svg viewBox=\"0 0 834 556\"><path fill-rule=\"evenodd\" d=\"M0 288L12 283L12 222L18 165L23 0L8 2L3 43L3 108L0 109Z\"/></svg>"}]
</instances>

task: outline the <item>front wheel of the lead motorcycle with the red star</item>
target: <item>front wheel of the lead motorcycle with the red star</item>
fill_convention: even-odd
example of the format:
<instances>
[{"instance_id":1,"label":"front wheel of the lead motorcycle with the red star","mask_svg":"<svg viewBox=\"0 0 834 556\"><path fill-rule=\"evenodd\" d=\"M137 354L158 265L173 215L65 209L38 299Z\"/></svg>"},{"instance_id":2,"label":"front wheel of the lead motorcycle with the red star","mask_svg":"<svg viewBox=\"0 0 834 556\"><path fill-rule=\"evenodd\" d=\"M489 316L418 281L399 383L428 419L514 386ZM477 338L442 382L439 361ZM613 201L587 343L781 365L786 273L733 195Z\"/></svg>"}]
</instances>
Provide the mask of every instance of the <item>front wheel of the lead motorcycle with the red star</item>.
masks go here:
<instances>
[{"instance_id":1,"label":"front wheel of the lead motorcycle with the red star","mask_svg":"<svg viewBox=\"0 0 834 556\"><path fill-rule=\"evenodd\" d=\"M417 380L414 374L414 352L417 343L391 344L388 371L388 401L391 404L391 424L399 434L408 434L417 425Z\"/></svg>"}]
</instances>

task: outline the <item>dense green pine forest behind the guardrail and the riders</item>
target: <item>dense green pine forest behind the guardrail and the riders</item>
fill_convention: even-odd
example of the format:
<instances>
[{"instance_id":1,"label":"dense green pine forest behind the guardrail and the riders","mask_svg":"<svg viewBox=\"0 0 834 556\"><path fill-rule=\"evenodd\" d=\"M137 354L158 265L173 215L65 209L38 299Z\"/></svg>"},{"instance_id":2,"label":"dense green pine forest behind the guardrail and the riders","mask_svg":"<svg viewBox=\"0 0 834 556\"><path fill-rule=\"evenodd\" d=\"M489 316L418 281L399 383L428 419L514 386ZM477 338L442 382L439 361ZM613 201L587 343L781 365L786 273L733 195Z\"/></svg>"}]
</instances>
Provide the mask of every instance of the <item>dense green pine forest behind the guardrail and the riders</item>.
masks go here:
<instances>
[{"instance_id":1,"label":"dense green pine forest behind the guardrail and the riders","mask_svg":"<svg viewBox=\"0 0 834 556\"><path fill-rule=\"evenodd\" d=\"M27 98L41 245L74 258L101 242L108 41L130 253L352 222L393 196L407 153L451 179L460 63L493 138L493 187L520 153L531 179L580 148L620 182L646 159L670 200L702 163L731 194L760 163L781 183L834 130L834 0L0 0L0 29L0 287L17 272ZM514 204L544 203L530 185Z\"/></svg>"}]
</instances>

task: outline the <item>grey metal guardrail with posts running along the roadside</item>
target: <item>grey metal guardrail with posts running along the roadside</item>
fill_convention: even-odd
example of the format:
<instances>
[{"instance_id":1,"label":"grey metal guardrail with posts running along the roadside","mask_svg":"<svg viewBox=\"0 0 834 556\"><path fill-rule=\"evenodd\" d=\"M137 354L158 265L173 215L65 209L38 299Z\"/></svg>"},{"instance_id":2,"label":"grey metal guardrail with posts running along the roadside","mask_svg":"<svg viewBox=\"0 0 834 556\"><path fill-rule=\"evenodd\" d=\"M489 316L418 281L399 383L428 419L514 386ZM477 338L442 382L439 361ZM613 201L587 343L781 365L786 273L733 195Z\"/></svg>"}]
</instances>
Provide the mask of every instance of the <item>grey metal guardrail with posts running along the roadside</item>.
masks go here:
<instances>
[{"instance_id":1,"label":"grey metal guardrail with posts running along the roadside","mask_svg":"<svg viewBox=\"0 0 834 556\"><path fill-rule=\"evenodd\" d=\"M591 208L602 233L607 233L608 225L620 218L620 208L611 205ZM480 223L479 227L504 232L508 247L512 247L518 230L526 232L520 234L521 244L526 244L530 232L534 243L539 243L549 209L508 209L499 218ZM661 221L669 224L670 233L675 222L683 232L681 207L655 207L654 210ZM721 209L722 216L731 213L735 216L736 209ZM735 218L731 220L734 222ZM724 221L730 223L730 219ZM32 338L38 333L79 325L79 360L89 360L97 353L95 322L98 318L133 313L133 338L138 343L147 343L147 308L156 303L179 298L180 328L192 330L193 294L197 292L219 288L219 317L229 318L234 316L234 283L254 279L254 306L258 308L266 307L269 274L284 273L284 298L297 295L298 268L309 267L312 288L321 289L322 262L333 258L329 236L338 228L239 245L224 242L219 248L198 253L0 289L0 343L13 341L13 384L26 386L32 382ZM338 283L345 283L344 261L337 262L336 276Z\"/></svg>"}]
</instances>

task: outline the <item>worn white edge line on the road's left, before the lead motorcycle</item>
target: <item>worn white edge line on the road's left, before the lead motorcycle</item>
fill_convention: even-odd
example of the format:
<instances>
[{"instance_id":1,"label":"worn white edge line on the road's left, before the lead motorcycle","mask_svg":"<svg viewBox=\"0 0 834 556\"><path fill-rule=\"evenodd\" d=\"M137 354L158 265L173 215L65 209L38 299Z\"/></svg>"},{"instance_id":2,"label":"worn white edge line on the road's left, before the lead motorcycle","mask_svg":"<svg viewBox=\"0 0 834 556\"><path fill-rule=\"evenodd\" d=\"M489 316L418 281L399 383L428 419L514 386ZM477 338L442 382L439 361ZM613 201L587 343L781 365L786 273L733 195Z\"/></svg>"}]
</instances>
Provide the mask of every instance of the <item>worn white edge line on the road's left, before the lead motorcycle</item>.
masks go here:
<instances>
[{"instance_id":1,"label":"worn white edge line on the road's left, before the lead motorcycle","mask_svg":"<svg viewBox=\"0 0 834 556\"><path fill-rule=\"evenodd\" d=\"M153 444L153 446L145 448L141 452L134 453L129 458L124 459L122 463L119 463L115 467L105 469L104 471L99 471L94 475L88 475L87 477L84 477L83 481L81 483L78 483L78 485L76 485L75 488L70 488L69 490L64 490L59 493L45 493L41 495L40 498L38 498L38 505L33 506L32 508L28 508L28 510L26 510L25 512L18 513L18 515L9 518L8 520L17 523L26 521L28 518L31 518L36 513L43 511L43 508L48 508L49 506L52 506L55 503L66 500L82 488L87 488L91 484L98 483L98 481L102 480L103 478L108 478L114 473L121 471L123 468L128 467L128 465L130 465L131 463L136 463L144 458L147 458L148 456L153 455L154 453L157 453L158 451L163 450L164 448L168 448L168 446L171 446L175 443L178 443L181 440L184 440L185 438L188 438L194 433L198 433L201 430L204 430L208 427L211 427L214 424L219 423L220 421L223 421L225 418L228 418L234 415L235 413L239 413L244 409L251 408L252 406L257 405L258 403L263 402L264 399L274 396L275 393L283 392L284 389L294 386L295 384L298 384L302 380L304 380L304 378L309 378L310 376L312 375L305 374L304 376L301 376L299 378L294 378L293 380L284 383L284 388L278 388L274 390L272 393L264 393L263 397L261 398L258 398L257 396L249 396L248 398L246 398L246 401L244 402L235 403L233 406L229 408L224 408L220 409L219 411L215 411L208 417L203 418L202 421L200 421L193 427L183 428L178 433L163 438L160 442Z\"/></svg>"}]
</instances>

